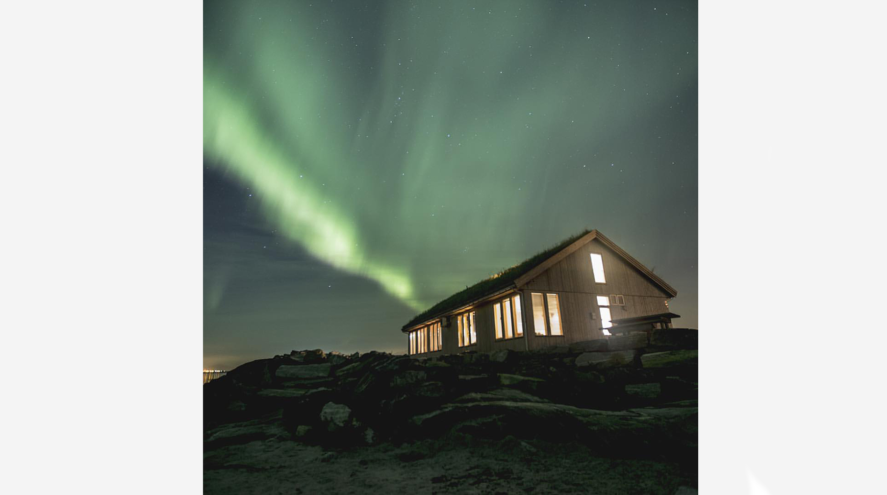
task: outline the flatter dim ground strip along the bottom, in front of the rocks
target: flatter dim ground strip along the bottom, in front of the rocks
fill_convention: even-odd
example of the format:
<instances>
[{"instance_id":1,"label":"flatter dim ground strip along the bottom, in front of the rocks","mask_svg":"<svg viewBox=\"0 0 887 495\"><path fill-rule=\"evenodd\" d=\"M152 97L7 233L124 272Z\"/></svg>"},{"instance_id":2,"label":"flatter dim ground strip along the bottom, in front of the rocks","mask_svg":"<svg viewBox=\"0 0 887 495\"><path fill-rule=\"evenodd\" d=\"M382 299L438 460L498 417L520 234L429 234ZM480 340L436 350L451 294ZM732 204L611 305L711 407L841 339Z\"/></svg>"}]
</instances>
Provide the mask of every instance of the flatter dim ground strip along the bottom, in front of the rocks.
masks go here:
<instances>
[{"instance_id":1,"label":"flatter dim ground strip along the bottom, in front of the rocks","mask_svg":"<svg viewBox=\"0 0 887 495\"><path fill-rule=\"evenodd\" d=\"M695 484L695 469L664 460L595 457L581 444L420 441L327 449L284 439L207 452L204 492L663 493ZM685 488L684 493L695 493Z\"/></svg>"}]
</instances>

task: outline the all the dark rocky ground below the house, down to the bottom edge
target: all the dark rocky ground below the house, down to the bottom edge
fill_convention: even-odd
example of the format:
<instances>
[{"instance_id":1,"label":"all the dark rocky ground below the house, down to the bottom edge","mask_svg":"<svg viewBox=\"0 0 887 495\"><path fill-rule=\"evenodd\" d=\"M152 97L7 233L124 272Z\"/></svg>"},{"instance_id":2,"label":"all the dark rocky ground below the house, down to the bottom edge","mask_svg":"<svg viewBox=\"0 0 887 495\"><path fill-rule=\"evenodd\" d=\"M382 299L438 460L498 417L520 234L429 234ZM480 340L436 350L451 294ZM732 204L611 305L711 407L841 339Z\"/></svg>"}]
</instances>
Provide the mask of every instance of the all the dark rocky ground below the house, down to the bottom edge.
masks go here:
<instances>
[{"instance_id":1,"label":"all the dark rocky ground below the house, down to the bottom edge","mask_svg":"<svg viewBox=\"0 0 887 495\"><path fill-rule=\"evenodd\" d=\"M204 385L204 491L695 493L695 342L247 363Z\"/></svg>"}]
</instances>

